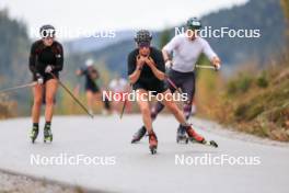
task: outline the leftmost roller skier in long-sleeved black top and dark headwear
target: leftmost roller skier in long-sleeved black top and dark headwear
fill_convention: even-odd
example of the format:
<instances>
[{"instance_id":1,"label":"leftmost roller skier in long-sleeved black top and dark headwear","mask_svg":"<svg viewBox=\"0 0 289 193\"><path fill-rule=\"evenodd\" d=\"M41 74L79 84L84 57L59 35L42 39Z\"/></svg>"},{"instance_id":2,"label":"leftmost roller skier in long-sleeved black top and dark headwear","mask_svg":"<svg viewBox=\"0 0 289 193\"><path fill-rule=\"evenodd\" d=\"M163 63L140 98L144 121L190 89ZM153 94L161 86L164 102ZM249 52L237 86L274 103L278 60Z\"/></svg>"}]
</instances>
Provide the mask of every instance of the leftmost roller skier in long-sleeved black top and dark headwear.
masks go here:
<instances>
[{"instance_id":1,"label":"leftmost roller skier in long-sleeved black top and dark headwear","mask_svg":"<svg viewBox=\"0 0 289 193\"><path fill-rule=\"evenodd\" d=\"M45 126L44 141L51 141L51 121L54 114L54 99L58 88L59 71L63 67L62 45L55 41L56 30L53 25L43 25L39 30L42 39L34 42L31 46L30 70L33 75L33 81L37 84L33 88L33 107L31 130L32 143L38 136L39 116L43 98L45 98ZM55 77L57 79L55 79ZM44 90L46 91L45 94Z\"/></svg>"}]
</instances>

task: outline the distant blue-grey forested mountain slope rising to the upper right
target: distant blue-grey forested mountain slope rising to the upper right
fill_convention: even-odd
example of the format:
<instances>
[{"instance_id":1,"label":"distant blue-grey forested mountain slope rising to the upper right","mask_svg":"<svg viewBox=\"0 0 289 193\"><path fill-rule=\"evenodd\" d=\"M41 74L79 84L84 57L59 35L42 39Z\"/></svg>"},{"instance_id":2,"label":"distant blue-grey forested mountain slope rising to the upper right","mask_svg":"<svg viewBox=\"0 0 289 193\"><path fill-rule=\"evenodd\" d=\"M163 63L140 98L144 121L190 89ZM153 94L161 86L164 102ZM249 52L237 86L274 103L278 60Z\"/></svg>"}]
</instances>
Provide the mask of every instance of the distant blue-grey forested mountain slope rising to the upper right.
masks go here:
<instances>
[{"instance_id":1,"label":"distant blue-grey forested mountain slope rising to the upper right","mask_svg":"<svg viewBox=\"0 0 289 193\"><path fill-rule=\"evenodd\" d=\"M207 38L222 61L228 65L227 68L233 68L248 59L258 60L259 65L263 65L273 53L278 53L284 46L285 22L280 2L276 0L251 0L243 5L204 15L201 20L204 25L212 26L212 29L228 26L235 30L261 30L259 38ZM153 33L155 46L160 45L160 36L165 31ZM174 29L170 32L172 37ZM109 70L126 76L124 64L131 48L134 48L132 36L130 39L89 52L88 55L106 64Z\"/></svg>"}]
</instances>

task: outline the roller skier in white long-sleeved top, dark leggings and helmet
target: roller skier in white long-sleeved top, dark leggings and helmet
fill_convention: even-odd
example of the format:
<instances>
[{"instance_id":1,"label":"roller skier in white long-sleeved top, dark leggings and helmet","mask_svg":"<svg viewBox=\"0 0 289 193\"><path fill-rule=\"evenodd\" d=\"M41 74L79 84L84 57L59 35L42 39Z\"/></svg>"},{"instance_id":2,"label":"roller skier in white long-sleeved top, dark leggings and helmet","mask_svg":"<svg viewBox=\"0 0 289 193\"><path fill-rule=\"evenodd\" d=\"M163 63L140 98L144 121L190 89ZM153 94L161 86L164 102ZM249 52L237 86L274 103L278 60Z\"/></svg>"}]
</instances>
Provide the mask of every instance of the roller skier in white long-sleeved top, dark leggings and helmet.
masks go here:
<instances>
[{"instance_id":1,"label":"roller skier in white long-sleeved top, dark leggings and helmet","mask_svg":"<svg viewBox=\"0 0 289 193\"><path fill-rule=\"evenodd\" d=\"M190 18L186 23L186 32L174 36L163 48L162 54L166 68L170 68L169 78L176 84L177 88L184 93L187 93L188 100L183 106L183 112L188 120L192 113L192 102L195 94L195 68L197 59L200 54L205 54L215 66L216 70L221 67L221 60L217 54L212 50L208 42L197 35L197 31L200 30L201 23L197 18ZM172 59L170 55L173 54ZM175 89L167 82L171 92L175 92ZM164 105L158 102L151 109L151 117L155 120L157 115L163 110ZM132 137L131 143L139 141L146 135L146 127L142 126ZM182 125L177 128L176 141L185 139L187 137L185 129Z\"/></svg>"}]
</instances>

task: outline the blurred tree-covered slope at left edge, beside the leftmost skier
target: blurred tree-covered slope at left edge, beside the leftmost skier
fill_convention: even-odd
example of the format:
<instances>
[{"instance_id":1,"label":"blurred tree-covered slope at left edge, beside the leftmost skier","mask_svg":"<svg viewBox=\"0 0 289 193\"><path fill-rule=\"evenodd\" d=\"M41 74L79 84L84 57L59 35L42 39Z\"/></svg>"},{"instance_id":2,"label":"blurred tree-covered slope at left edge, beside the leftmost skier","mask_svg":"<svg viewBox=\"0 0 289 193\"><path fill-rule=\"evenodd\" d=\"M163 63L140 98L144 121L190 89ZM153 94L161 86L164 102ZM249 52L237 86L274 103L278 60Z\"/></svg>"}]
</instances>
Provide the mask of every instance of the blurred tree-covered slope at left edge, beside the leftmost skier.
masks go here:
<instances>
[{"instance_id":1,"label":"blurred tree-covered slope at left edge, beside the leftmost skier","mask_svg":"<svg viewBox=\"0 0 289 193\"><path fill-rule=\"evenodd\" d=\"M7 10L0 10L0 88L22 84L31 80L27 70L30 39L23 22L9 18ZM26 103L21 106L27 110L28 91L10 94L15 101ZM11 116L15 112L16 103L11 102L8 95L0 95L0 118ZM21 112L22 112L21 111Z\"/></svg>"}]
</instances>

